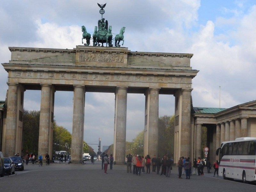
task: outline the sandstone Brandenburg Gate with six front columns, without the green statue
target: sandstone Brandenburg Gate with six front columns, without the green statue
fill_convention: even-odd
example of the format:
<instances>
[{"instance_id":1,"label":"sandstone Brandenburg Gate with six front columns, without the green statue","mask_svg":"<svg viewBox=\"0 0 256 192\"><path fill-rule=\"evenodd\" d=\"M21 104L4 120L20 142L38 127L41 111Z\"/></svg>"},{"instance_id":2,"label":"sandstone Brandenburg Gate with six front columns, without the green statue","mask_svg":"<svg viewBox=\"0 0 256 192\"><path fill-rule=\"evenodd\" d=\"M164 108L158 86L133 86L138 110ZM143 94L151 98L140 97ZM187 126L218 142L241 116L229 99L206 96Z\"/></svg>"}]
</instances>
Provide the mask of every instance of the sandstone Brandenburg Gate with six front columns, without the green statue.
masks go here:
<instances>
[{"instance_id":1,"label":"sandstone Brandenburg Gate with six front columns, without the green statue","mask_svg":"<svg viewBox=\"0 0 256 192\"><path fill-rule=\"evenodd\" d=\"M23 97L41 90L38 154L52 155L55 91L73 91L72 162L82 160L86 92L115 93L114 158L124 163L127 93L145 95L144 154L157 155L159 94L175 96L174 159L189 156L193 54L132 52L126 47L76 46L74 49L9 47L4 156L22 143ZM86 134L86 133L85 133ZM44 156L44 155L43 155Z\"/></svg>"}]
</instances>

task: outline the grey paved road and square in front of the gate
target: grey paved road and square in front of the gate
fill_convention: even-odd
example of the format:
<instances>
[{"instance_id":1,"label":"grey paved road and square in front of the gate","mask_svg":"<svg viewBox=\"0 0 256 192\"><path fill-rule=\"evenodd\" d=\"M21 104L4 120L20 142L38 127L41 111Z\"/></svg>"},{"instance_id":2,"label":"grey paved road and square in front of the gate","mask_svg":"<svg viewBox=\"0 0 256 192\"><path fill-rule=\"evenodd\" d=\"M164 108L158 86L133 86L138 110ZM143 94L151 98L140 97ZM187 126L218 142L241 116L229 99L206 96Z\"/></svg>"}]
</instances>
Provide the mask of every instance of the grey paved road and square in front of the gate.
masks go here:
<instances>
[{"instance_id":1,"label":"grey paved road and square in front of the gate","mask_svg":"<svg viewBox=\"0 0 256 192\"><path fill-rule=\"evenodd\" d=\"M38 164L25 164L24 171L0 178L0 191L17 192L73 192L73 191L255 191L256 185L213 177L213 173L204 176L191 176L190 180L178 179L178 168L173 167L171 176L159 176L156 173L133 175L126 172L126 165L113 165L113 170L104 174L101 162L81 164L50 164L39 167Z\"/></svg>"}]
</instances>

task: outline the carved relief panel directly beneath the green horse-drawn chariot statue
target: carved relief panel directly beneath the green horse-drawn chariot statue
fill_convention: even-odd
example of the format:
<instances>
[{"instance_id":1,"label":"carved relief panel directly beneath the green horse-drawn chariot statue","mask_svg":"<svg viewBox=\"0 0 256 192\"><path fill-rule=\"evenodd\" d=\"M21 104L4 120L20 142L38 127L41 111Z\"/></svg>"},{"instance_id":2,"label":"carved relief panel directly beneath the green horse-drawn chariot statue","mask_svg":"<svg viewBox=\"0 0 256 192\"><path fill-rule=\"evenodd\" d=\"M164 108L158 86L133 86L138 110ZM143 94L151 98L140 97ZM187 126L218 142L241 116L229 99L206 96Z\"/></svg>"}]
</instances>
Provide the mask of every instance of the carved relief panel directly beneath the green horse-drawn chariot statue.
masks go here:
<instances>
[{"instance_id":1,"label":"carved relief panel directly beneath the green horse-drawn chariot statue","mask_svg":"<svg viewBox=\"0 0 256 192\"><path fill-rule=\"evenodd\" d=\"M80 53L79 61L81 61L81 62L124 63L124 55Z\"/></svg>"}]
</instances>

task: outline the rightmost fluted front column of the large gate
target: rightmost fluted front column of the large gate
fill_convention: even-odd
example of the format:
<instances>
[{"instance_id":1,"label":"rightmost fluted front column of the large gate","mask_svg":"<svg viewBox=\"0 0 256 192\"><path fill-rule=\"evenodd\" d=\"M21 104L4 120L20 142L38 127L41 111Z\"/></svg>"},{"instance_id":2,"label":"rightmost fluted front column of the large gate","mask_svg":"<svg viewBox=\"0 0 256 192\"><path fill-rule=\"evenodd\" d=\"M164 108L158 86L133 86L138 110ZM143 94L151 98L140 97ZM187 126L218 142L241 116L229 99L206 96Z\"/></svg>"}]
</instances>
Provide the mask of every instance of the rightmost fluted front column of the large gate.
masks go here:
<instances>
[{"instance_id":1,"label":"rightmost fluted front column of the large gate","mask_svg":"<svg viewBox=\"0 0 256 192\"><path fill-rule=\"evenodd\" d=\"M190 156L191 89L182 90L180 154Z\"/></svg>"}]
</instances>

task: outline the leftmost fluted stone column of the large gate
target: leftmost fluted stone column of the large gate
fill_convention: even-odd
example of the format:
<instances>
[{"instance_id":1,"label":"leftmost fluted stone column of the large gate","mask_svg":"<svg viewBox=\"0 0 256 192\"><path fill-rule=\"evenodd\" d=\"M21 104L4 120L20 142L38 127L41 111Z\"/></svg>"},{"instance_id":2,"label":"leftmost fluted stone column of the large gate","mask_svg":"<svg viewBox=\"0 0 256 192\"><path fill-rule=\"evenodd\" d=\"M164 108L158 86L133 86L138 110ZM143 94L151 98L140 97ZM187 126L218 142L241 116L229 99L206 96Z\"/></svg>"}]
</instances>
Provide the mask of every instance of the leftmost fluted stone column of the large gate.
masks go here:
<instances>
[{"instance_id":1,"label":"leftmost fluted stone column of the large gate","mask_svg":"<svg viewBox=\"0 0 256 192\"><path fill-rule=\"evenodd\" d=\"M4 156L15 154L15 132L17 123L17 88L18 84L8 84L5 149Z\"/></svg>"}]
</instances>

